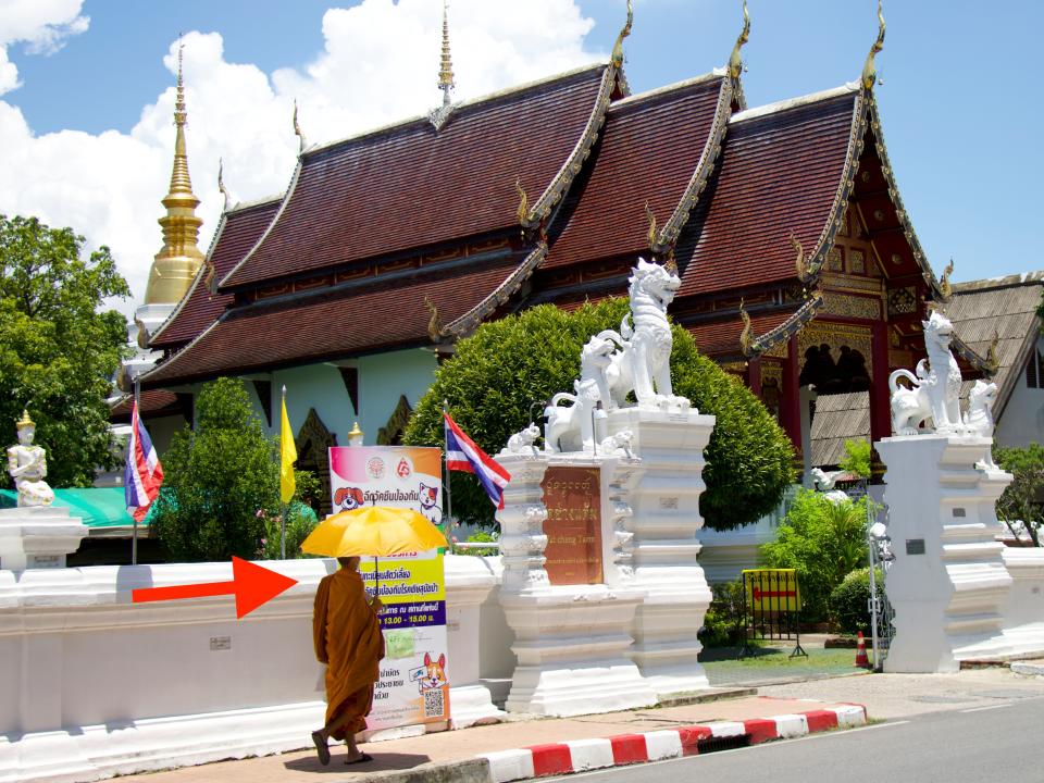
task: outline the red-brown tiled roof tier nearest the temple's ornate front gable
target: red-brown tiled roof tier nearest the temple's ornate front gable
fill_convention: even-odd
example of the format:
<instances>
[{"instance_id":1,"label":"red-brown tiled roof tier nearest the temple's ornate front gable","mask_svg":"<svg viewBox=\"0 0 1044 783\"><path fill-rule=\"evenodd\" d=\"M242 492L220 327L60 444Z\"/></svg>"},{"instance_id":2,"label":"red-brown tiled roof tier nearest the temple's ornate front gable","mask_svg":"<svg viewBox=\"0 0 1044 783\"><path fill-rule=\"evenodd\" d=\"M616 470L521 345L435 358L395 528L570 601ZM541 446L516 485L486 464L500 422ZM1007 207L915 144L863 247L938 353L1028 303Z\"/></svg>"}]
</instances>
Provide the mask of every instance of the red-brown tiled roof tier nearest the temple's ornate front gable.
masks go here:
<instances>
[{"instance_id":1,"label":"red-brown tiled roof tier nearest the temple's ornate front gable","mask_svg":"<svg viewBox=\"0 0 1044 783\"><path fill-rule=\"evenodd\" d=\"M733 115L709 192L679 238L680 297L796 277L790 236L806 251L820 244L859 107L857 90L837 89Z\"/></svg>"}]
</instances>

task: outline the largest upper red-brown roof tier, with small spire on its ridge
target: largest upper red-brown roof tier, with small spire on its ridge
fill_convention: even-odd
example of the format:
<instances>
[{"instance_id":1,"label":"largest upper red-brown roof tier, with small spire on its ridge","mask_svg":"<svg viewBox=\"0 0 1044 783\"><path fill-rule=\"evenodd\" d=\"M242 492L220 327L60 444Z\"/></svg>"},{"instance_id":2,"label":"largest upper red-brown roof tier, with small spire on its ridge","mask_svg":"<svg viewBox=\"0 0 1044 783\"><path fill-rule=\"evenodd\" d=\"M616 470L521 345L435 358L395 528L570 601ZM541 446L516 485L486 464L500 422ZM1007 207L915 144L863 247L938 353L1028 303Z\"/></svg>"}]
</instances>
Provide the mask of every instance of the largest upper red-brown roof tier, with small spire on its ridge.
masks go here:
<instances>
[{"instance_id":1,"label":"largest upper red-brown roof tier, with small spire on its ridge","mask_svg":"<svg viewBox=\"0 0 1044 783\"><path fill-rule=\"evenodd\" d=\"M229 288L518 225L584 136L607 65L306 151L282 212ZM614 73L614 72L613 72ZM600 111L600 110L599 110Z\"/></svg>"}]
</instances>

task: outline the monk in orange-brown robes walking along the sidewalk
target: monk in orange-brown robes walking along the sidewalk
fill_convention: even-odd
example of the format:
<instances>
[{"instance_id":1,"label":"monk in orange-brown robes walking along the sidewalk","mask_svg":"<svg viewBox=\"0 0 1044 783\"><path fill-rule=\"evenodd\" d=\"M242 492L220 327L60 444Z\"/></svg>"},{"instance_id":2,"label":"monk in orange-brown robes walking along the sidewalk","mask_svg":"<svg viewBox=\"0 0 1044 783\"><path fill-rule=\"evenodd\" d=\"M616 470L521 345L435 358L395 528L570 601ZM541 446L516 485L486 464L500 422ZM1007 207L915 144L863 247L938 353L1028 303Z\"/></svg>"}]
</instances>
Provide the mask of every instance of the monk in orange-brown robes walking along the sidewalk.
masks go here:
<instances>
[{"instance_id":1,"label":"monk in orange-brown robes walking along the sidewalk","mask_svg":"<svg viewBox=\"0 0 1044 783\"><path fill-rule=\"evenodd\" d=\"M337 558L337 562L340 569L319 583L312 616L315 657L326 664L326 725L312 732L324 766L330 763L330 737L345 741L345 763L373 760L359 751L356 732L366 728L373 685L384 658L384 635L377 620L384 605L376 597L368 602L359 558Z\"/></svg>"}]
</instances>

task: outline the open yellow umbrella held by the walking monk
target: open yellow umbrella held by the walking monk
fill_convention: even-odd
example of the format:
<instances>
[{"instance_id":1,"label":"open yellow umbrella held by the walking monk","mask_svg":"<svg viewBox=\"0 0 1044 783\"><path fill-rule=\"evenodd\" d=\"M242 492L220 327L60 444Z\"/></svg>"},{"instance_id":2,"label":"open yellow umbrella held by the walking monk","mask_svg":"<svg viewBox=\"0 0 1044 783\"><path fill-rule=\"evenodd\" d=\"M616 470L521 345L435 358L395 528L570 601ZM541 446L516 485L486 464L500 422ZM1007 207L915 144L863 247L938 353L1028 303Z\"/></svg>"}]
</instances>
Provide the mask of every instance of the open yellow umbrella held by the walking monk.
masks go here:
<instances>
[{"instance_id":1,"label":"open yellow umbrella held by the walking monk","mask_svg":"<svg viewBox=\"0 0 1044 783\"><path fill-rule=\"evenodd\" d=\"M364 506L320 522L301 551L326 557L386 557L446 546L446 536L413 509Z\"/></svg>"}]
</instances>

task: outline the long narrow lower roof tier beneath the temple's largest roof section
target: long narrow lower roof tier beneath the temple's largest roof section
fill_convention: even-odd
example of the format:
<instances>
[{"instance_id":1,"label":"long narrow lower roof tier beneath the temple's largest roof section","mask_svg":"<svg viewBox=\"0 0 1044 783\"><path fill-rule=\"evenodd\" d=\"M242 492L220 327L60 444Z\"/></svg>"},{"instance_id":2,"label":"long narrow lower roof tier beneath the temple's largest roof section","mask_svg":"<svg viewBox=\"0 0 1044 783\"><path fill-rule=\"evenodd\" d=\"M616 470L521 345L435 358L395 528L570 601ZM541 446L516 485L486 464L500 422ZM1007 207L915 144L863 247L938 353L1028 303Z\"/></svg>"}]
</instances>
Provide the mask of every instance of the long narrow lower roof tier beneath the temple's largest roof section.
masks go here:
<instances>
[{"instance_id":1,"label":"long narrow lower roof tier beneath the temple's largest roof section","mask_svg":"<svg viewBox=\"0 0 1044 783\"><path fill-rule=\"evenodd\" d=\"M514 269L500 260L411 282L294 295L229 311L142 378L149 387L219 374L303 364L427 341L430 300L447 323L473 308Z\"/></svg>"}]
</instances>

